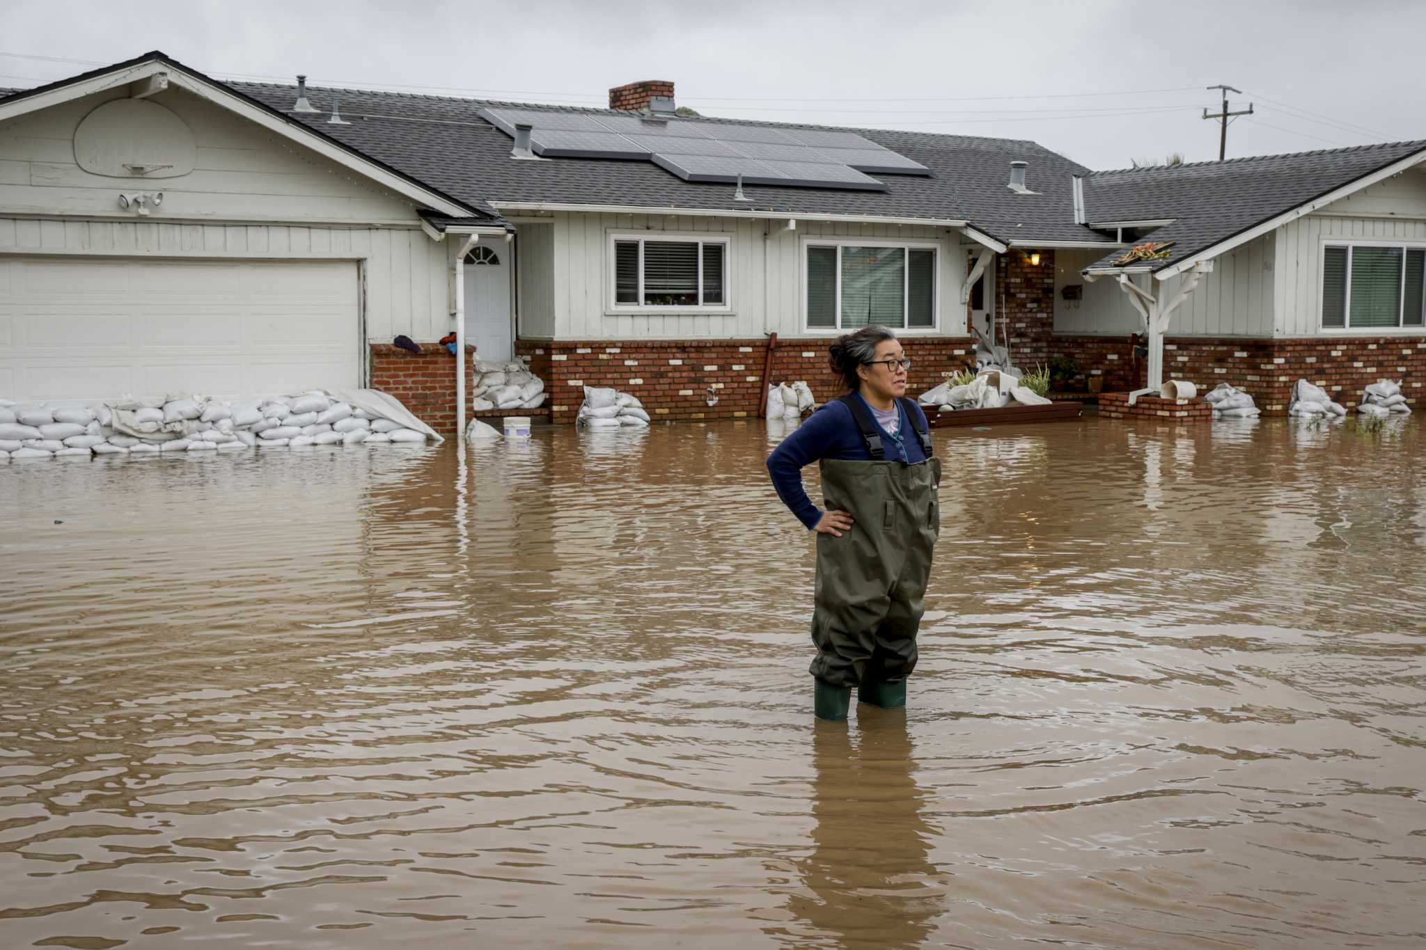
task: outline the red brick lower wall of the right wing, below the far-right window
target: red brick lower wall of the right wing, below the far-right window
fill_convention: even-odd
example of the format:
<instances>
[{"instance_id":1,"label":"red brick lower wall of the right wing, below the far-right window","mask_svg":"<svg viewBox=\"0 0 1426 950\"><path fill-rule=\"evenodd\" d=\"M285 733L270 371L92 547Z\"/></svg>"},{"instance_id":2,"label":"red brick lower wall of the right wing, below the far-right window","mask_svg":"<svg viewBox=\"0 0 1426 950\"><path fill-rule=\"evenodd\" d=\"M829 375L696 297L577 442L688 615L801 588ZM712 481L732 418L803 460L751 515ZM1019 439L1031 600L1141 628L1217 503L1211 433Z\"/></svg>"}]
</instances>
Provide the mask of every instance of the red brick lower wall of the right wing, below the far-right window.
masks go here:
<instances>
[{"instance_id":1,"label":"red brick lower wall of the right wing, below the far-right window","mask_svg":"<svg viewBox=\"0 0 1426 950\"><path fill-rule=\"evenodd\" d=\"M1104 375L1105 392L1138 389L1147 366L1139 360L1132 379L1127 336L1055 336L1055 353L1072 356L1085 373ZM1232 383L1252 393L1269 414L1288 412L1292 386L1306 379L1322 386L1343 406L1353 407L1362 389L1379 379L1405 380L1407 400L1422 397L1426 382L1426 342L1419 338L1353 339L1235 339L1169 336L1164 342L1165 379L1186 379L1208 392Z\"/></svg>"}]
</instances>

